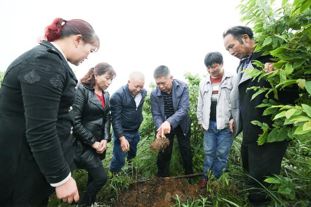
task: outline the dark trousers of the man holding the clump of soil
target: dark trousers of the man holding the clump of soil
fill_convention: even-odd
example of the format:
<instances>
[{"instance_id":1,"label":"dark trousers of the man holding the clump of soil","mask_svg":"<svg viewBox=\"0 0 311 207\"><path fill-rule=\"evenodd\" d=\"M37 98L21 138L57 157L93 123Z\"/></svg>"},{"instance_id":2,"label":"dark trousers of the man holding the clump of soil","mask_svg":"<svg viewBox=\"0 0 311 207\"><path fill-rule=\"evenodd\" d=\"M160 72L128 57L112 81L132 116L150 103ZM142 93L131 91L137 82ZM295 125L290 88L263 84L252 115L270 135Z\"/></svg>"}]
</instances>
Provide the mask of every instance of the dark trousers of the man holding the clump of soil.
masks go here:
<instances>
[{"instance_id":1,"label":"dark trousers of the man holding the clump of soil","mask_svg":"<svg viewBox=\"0 0 311 207\"><path fill-rule=\"evenodd\" d=\"M176 135L178 141L178 147L180 155L183 159L183 166L185 168L185 174L192 174L192 153L190 146L190 130L187 135L184 135L180 126L171 130L170 134L165 135L166 138L170 140L170 145L164 150L164 152L159 152L157 155L156 166L157 166L157 176L167 177L169 176L169 168L171 162L171 156L173 151L173 140Z\"/></svg>"}]
</instances>

